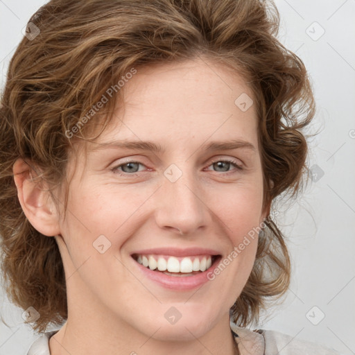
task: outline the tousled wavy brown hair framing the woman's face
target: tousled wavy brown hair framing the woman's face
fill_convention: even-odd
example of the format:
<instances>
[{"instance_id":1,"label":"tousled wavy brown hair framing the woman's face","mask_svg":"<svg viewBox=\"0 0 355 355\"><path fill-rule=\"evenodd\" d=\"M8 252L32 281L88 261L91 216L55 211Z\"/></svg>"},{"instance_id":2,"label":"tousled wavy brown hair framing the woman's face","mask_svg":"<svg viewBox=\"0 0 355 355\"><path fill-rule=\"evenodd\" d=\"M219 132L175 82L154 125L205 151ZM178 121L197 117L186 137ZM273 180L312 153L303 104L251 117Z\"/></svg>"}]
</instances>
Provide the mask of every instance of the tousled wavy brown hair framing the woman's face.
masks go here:
<instances>
[{"instance_id":1,"label":"tousled wavy brown hair framing the woman's face","mask_svg":"<svg viewBox=\"0 0 355 355\"><path fill-rule=\"evenodd\" d=\"M282 193L296 196L308 176L301 130L315 103L302 60L277 40L279 12L261 0L52 0L29 24L10 61L0 107L0 235L4 285L10 300L40 318L44 331L67 319L62 259L54 238L28 222L12 166L21 157L51 186L64 182L69 152L89 139L80 117L132 67L208 58L241 74L254 95L263 168L264 206ZM101 132L121 92L101 110ZM41 171L41 173L40 173ZM65 205L67 205L65 203ZM282 232L265 221L247 284L232 306L234 322L257 322L268 300L288 289L291 263Z\"/></svg>"}]
</instances>

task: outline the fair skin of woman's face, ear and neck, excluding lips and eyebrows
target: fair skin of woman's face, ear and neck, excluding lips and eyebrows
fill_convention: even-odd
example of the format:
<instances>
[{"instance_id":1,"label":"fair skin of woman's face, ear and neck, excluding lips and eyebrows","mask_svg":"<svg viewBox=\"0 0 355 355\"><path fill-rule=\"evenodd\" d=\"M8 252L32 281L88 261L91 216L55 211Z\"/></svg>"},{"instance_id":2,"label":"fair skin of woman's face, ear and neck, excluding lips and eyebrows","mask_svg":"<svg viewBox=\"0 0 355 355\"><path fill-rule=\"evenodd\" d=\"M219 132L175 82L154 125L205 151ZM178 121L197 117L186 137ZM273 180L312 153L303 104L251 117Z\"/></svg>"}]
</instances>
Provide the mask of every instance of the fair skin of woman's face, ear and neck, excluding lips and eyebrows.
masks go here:
<instances>
[{"instance_id":1,"label":"fair skin of woman's face, ear and neck, excluding lips and eyebrows","mask_svg":"<svg viewBox=\"0 0 355 355\"><path fill-rule=\"evenodd\" d=\"M71 155L67 214L14 165L19 201L31 224L55 236L67 278L68 320L50 340L51 354L238 354L230 332L230 307L252 270L257 238L213 281L173 291L144 277L130 254L138 249L213 248L227 257L262 210L263 173L254 105L234 104L250 88L235 72L206 60L144 67L125 84L125 110L117 110L98 143L153 141L166 150L97 148ZM210 141L242 139L255 150L207 151ZM112 168L128 161L118 171ZM213 162L235 160L232 164ZM182 176L168 180L171 164ZM125 170L123 171L123 169ZM119 175L122 173L123 175ZM57 192L60 201L64 194ZM183 234L180 234L180 230ZM111 246L99 253L101 234ZM170 324L164 313L181 313Z\"/></svg>"}]
</instances>

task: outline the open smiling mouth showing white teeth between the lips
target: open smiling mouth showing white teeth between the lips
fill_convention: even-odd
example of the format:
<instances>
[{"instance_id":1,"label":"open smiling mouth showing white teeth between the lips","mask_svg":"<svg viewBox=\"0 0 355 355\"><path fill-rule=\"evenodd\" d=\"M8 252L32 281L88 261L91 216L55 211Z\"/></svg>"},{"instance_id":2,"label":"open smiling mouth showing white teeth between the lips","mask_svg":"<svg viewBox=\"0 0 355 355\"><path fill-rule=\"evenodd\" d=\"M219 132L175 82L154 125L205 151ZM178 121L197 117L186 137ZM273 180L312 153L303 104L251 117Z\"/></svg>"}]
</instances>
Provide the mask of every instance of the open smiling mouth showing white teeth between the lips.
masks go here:
<instances>
[{"instance_id":1,"label":"open smiling mouth showing white teeth between the lips","mask_svg":"<svg viewBox=\"0 0 355 355\"><path fill-rule=\"evenodd\" d=\"M157 254L132 254L132 258L145 268L169 276L194 276L205 272L220 259L220 255L173 257Z\"/></svg>"}]
</instances>

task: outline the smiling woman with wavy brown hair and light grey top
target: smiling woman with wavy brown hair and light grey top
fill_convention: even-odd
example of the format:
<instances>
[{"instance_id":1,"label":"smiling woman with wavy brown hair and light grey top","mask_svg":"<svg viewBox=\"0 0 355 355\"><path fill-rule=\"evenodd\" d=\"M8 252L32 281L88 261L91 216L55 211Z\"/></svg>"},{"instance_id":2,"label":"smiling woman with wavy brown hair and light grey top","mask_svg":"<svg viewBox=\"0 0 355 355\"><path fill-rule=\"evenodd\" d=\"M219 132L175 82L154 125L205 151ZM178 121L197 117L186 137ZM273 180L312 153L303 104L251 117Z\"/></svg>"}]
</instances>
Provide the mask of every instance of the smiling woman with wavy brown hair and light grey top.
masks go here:
<instances>
[{"instance_id":1,"label":"smiling woman with wavy brown hair and light grey top","mask_svg":"<svg viewBox=\"0 0 355 355\"><path fill-rule=\"evenodd\" d=\"M28 355L338 354L248 329L288 288L270 209L302 186L315 110L278 24L257 0L52 0L29 21L0 111Z\"/></svg>"}]
</instances>

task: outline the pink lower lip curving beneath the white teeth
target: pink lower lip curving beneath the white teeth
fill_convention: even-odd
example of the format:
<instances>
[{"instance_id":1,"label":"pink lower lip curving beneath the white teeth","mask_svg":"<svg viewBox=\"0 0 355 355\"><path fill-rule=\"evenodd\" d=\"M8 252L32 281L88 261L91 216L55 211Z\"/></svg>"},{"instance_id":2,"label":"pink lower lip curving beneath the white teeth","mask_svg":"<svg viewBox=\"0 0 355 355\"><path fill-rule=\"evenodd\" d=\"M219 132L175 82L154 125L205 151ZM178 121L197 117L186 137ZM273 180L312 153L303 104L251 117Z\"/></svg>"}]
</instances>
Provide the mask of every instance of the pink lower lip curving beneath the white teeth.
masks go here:
<instances>
[{"instance_id":1,"label":"pink lower lip curving beneath the white teeth","mask_svg":"<svg viewBox=\"0 0 355 355\"><path fill-rule=\"evenodd\" d=\"M218 257L218 259L214 261L210 268L193 276L169 276L164 274L163 272L150 270L150 268L146 268L140 263L137 263L135 259L133 259L133 261L146 277L153 280L153 282L156 282L160 286L170 288L175 291L189 291L193 290L193 288L198 288L203 284L209 282L207 274L213 272L214 268L218 266L220 257Z\"/></svg>"}]
</instances>

